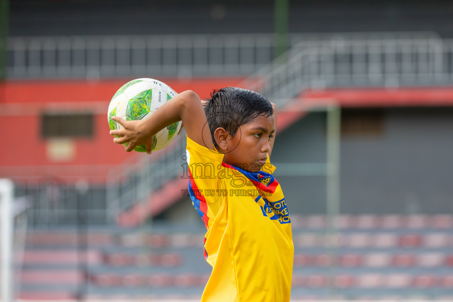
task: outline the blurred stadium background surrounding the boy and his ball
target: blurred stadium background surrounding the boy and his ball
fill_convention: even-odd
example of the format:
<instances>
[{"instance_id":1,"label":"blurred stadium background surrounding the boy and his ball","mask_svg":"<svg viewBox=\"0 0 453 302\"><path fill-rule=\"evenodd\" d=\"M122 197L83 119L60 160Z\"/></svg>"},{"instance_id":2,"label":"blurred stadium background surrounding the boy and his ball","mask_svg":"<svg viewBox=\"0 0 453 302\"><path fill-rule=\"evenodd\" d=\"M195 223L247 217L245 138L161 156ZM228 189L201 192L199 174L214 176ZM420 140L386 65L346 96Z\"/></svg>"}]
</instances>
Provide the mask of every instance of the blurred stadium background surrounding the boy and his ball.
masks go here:
<instances>
[{"instance_id":1,"label":"blurred stadium background surrounding the boy and his ball","mask_svg":"<svg viewBox=\"0 0 453 302\"><path fill-rule=\"evenodd\" d=\"M108 134L136 77L278 104L292 300L453 299L451 1L0 4L5 301L201 297L184 135L148 156Z\"/></svg>"}]
</instances>

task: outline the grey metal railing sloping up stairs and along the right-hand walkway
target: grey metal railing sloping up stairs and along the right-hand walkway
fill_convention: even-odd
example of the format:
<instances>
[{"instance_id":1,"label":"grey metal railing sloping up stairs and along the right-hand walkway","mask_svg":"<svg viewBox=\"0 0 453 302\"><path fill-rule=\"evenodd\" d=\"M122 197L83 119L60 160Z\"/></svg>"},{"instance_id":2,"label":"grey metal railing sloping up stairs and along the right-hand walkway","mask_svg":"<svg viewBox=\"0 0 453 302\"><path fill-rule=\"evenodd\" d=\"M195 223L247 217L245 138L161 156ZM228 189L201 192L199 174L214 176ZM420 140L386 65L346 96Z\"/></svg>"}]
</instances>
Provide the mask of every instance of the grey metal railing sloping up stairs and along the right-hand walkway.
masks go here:
<instances>
[{"instance_id":1,"label":"grey metal railing sloping up stairs and along the right-hand walkway","mask_svg":"<svg viewBox=\"0 0 453 302\"><path fill-rule=\"evenodd\" d=\"M453 40L343 38L301 42L243 82L282 103L306 88L439 86L453 83Z\"/></svg>"}]
</instances>

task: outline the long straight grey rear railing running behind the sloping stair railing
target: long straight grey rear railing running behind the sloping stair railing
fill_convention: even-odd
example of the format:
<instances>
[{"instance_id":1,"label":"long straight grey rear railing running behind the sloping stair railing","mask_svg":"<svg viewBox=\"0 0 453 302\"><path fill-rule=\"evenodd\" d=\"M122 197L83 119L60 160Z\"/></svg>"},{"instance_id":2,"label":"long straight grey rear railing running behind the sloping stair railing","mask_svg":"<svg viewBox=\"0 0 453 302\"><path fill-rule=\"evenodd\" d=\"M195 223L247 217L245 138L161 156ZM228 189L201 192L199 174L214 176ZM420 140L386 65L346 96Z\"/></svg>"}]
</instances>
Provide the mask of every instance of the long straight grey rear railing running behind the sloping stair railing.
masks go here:
<instances>
[{"instance_id":1,"label":"long straight grey rear railing running behind the sloping stair railing","mask_svg":"<svg viewBox=\"0 0 453 302\"><path fill-rule=\"evenodd\" d=\"M290 34L289 45L435 33ZM248 76L272 62L273 34L11 37L9 78Z\"/></svg>"}]
</instances>

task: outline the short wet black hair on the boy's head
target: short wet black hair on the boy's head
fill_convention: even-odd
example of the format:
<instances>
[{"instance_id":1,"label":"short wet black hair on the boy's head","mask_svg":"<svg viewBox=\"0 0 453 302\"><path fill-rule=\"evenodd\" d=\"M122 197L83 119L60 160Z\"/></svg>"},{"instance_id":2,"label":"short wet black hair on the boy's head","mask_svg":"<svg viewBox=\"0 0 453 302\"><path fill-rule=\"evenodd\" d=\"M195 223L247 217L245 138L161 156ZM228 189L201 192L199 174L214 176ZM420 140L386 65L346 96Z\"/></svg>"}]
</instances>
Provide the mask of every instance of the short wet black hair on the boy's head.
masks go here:
<instances>
[{"instance_id":1,"label":"short wet black hair on the boy's head","mask_svg":"<svg viewBox=\"0 0 453 302\"><path fill-rule=\"evenodd\" d=\"M217 128L222 127L234 137L240 126L250 123L259 115L269 117L274 114L268 99L258 92L238 87L213 90L211 98L203 101L203 106L212 143L217 150L219 146L214 139Z\"/></svg>"}]
</instances>

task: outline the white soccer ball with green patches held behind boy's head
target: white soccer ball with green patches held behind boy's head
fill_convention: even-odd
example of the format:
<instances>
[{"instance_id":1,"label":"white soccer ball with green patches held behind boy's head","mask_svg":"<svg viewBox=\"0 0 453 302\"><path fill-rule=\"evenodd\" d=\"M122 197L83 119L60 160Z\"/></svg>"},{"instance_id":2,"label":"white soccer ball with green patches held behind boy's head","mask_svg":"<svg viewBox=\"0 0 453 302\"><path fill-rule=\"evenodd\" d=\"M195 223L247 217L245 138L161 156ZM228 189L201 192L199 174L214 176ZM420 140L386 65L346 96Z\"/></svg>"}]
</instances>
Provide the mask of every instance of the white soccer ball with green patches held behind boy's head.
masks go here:
<instances>
[{"instance_id":1,"label":"white soccer ball with green patches held behind boy's head","mask_svg":"<svg viewBox=\"0 0 453 302\"><path fill-rule=\"evenodd\" d=\"M141 78L127 82L121 86L112 97L108 111L108 121L111 130L121 129L112 116L123 120L142 120L152 115L162 104L176 96L175 92L165 83ZM159 150L170 144L181 129L181 121L168 125L154 135L152 150ZM128 143L123 144L127 146ZM137 152L146 152L145 145L137 145Z\"/></svg>"}]
</instances>

